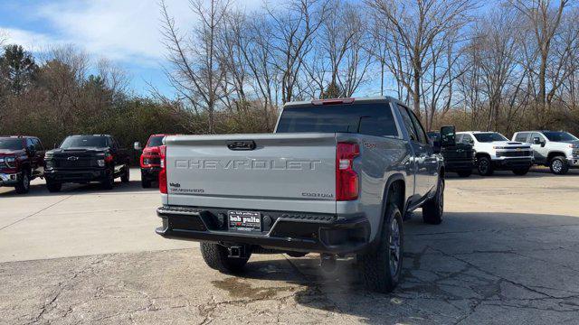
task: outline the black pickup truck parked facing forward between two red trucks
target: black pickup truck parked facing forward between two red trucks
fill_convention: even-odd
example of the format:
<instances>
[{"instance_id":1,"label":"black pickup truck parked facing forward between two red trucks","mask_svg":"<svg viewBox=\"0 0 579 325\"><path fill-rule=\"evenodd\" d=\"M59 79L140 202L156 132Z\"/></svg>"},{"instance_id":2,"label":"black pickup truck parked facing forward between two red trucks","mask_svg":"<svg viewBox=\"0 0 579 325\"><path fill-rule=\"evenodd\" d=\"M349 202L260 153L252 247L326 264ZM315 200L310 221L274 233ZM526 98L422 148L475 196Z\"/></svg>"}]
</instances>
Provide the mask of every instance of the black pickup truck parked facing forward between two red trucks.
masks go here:
<instances>
[{"instance_id":1,"label":"black pickup truck parked facing forward between two red trucks","mask_svg":"<svg viewBox=\"0 0 579 325\"><path fill-rule=\"evenodd\" d=\"M111 135L71 135L44 157L44 177L48 190L55 192L63 183L99 181L110 190L116 178L128 182L129 158Z\"/></svg>"}]
</instances>

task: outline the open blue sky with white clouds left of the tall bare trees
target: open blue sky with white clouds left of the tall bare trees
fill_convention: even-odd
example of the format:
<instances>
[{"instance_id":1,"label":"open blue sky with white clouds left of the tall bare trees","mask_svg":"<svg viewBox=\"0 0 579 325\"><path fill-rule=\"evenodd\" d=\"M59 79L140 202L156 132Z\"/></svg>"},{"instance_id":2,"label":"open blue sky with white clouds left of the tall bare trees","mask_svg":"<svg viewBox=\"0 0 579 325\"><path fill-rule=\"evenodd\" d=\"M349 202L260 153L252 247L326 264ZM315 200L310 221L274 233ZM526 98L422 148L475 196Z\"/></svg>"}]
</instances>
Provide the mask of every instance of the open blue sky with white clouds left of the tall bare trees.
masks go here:
<instances>
[{"instance_id":1,"label":"open blue sky with white clouds left of the tall bare trees","mask_svg":"<svg viewBox=\"0 0 579 325\"><path fill-rule=\"evenodd\" d=\"M187 0L167 0L180 26L191 26L195 15ZM260 0L238 1L247 10ZM162 66L166 51L159 33L157 0L0 0L0 30L7 43L41 53L52 45L75 44L90 54L112 60L128 71L131 88L147 94L147 82L171 96Z\"/></svg>"}]
</instances>

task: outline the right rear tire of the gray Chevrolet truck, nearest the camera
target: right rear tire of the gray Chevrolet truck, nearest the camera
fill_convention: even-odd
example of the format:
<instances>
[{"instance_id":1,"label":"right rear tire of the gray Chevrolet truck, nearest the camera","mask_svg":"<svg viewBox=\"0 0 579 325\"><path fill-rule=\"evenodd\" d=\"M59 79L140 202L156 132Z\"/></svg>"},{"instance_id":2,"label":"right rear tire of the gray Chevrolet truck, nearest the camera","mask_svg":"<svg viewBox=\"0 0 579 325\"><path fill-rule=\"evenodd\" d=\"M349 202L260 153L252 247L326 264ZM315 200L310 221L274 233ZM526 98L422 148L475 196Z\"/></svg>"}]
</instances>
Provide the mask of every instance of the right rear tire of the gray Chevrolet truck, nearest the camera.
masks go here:
<instances>
[{"instance_id":1,"label":"right rear tire of the gray Chevrolet truck, nearest the camera","mask_svg":"<svg viewBox=\"0 0 579 325\"><path fill-rule=\"evenodd\" d=\"M358 255L365 288L374 292L392 292L400 282L403 264L402 213L388 204L378 245ZM392 229L397 229L397 234ZM397 247L394 245L397 243Z\"/></svg>"}]
</instances>

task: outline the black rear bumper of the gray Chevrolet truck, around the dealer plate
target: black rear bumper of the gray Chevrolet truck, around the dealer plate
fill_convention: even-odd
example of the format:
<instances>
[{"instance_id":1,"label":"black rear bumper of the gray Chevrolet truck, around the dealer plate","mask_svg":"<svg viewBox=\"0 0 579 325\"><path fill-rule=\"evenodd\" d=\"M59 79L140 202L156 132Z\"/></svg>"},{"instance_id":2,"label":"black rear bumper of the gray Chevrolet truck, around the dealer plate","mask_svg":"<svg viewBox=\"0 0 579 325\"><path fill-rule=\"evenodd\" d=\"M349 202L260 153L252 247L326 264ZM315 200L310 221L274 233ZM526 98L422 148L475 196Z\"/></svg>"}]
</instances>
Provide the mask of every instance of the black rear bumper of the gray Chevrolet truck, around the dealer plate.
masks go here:
<instances>
[{"instance_id":1,"label":"black rear bumper of the gray Chevrolet truck, around the dealer plate","mask_svg":"<svg viewBox=\"0 0 579 325\"><path fill-rule=\"evenodd\" d=\"M235 243L280 250L327 254L356 253L369 242L370 224L365 217L283 211L261 212L261 232L227 229L227 209L161 207L163 226L157 235L171 239Z\"/></svg>"}]
</instances>

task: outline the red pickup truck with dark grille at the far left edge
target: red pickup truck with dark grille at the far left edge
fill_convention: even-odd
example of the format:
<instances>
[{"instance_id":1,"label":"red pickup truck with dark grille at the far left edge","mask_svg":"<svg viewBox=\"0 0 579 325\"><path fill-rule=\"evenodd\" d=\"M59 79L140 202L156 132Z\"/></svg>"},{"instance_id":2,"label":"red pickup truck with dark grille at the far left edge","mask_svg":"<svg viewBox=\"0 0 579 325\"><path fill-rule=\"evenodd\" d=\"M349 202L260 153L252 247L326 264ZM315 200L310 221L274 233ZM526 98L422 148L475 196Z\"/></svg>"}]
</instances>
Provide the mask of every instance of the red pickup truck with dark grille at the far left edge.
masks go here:
<instances>
[{"instance_id":1,"label":"red pickup truck with dark grille at the far left edge","mask_svg":"<svg viewBox=\"0 0 579 325\"><path fill-rule=\"evenodd\" d=\"M0 186L14 187L16 193L30 190L30 181L43 177L44 148L35 136L0 136Z\"/></svg>"}]
</instances>

